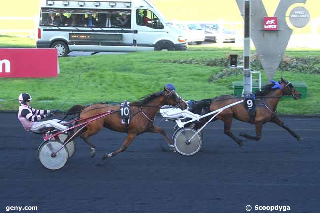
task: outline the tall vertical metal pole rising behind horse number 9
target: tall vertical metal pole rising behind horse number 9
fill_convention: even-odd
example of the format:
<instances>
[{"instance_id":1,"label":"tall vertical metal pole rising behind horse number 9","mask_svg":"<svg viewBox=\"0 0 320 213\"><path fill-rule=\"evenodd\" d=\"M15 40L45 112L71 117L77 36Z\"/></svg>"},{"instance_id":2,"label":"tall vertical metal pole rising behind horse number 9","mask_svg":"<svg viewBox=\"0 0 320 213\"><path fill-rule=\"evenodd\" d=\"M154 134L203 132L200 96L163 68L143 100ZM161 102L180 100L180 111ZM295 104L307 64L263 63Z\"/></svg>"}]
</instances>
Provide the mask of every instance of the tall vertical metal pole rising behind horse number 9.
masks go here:
<instances>
[{"instance_id":1,"label":"tall vertical metal pole rising behind horse number 9","mask_svg":"<svg viewBox=\"0 0 320 213\"><path fill-rule=\"evenodd\" d=\"M244 44L243 44L243 93L249 94L252 90L250 78L250 19L251 19L251 0L244 1Z\"/></svg>"}]
</instances>

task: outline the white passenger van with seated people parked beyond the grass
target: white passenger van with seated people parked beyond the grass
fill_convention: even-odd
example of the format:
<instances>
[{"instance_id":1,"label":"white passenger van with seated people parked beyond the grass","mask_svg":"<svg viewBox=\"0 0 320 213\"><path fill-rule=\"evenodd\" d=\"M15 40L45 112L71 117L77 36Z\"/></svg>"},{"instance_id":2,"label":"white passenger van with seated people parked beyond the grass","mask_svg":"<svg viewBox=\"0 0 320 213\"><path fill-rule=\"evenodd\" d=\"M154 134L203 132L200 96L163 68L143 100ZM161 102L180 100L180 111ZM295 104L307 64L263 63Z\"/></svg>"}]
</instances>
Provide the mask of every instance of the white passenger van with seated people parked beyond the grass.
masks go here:
<instances>
[{"instance_id":1,"label":"white passenger van with seated people parked beyond the grass","mask_svg":"<svg viewBox=\"0 0 320 213\"><path fill-rule=\"evenodd\" d=\"M134 52L186 50L186 37L149 0L43 0L37 48Z\"/></svg>"}]
</instances>

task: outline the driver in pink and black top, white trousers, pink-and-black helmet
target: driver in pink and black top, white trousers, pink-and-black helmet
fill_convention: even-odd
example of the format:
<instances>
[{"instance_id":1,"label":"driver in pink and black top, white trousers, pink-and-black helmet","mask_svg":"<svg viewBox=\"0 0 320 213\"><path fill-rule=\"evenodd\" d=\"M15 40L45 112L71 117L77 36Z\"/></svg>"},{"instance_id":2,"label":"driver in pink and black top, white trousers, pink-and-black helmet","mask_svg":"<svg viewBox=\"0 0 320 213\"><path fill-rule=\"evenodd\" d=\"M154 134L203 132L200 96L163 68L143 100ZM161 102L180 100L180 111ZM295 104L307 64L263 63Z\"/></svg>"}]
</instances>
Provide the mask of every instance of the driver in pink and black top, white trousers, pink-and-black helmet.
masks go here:
<instances>
[{"instance_id":1,"label":"driver in pink and black top, white trousers, pink-and-black helmet","mask_svg":"<svg viewBox=\"0 0 320 213\"><path fill-rule=\"evenodd\" d=\"M36 110L30 106L31 96L28 93L19 95L18 101L20 103L18 119L26 131L40 132L44 128L55 128L61 131L68 127L58 123L60 120L52 119L48 121L39 122L39 120L51 115L50 110ZM56 110L57 112L58 110Z\"/></svg>"}]
</instances>

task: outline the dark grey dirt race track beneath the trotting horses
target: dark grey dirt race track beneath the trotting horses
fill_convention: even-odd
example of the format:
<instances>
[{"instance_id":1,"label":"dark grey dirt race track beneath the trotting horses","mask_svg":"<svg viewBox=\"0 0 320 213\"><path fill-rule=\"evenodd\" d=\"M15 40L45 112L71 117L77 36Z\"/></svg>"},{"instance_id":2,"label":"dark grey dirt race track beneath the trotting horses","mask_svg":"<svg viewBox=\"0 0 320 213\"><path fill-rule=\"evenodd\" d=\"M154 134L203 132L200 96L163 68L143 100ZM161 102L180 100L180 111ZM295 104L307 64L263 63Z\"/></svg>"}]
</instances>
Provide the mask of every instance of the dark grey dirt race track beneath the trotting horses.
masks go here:
<instances>
[{"instance_id":1,"label":"dark grey dirt race track beneath the trotting horses","mask_svg":"<svg viewBox=\"0 0 320 213\"><path fill-rule=\"evenodd\" d=\"M103 130L92 137L95 158L78 138L74 156L50 171L37 158L41 136L25 132L15 114L0 114L0 213L6 206L38 207L21 213L246 213L247 205L251 213L270 212L255 205L320 213L320 118L282 119L303 142L270 123L260 141L244 140L240 149L217 121L204 130L202 149L192 157L169 151L161 135L147 133L102 161L125 138ZM174 122L159 126L172 135ZM234 122L233 133L242 131L254 134L254 127Z\"/></svg>"}]
</instances>

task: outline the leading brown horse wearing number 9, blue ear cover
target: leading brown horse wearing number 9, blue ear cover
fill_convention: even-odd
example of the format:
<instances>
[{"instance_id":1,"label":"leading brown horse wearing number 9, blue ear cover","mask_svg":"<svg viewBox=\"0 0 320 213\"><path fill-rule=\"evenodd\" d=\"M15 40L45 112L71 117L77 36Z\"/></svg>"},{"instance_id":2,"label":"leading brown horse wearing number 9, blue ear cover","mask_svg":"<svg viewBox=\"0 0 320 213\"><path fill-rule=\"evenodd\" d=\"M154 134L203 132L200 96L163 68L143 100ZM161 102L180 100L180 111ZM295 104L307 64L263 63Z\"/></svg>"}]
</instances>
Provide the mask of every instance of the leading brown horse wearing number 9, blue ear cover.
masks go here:
<instances>
[{"instance_id":1,"label":"leading brown horse wearing number 9, blue ear cover","mask_svg":"<svg viewBox=\"0 0 320 213\"><path fill-rule=\"evenodd\" d=\"M293 85L290 82L287 82L283 78L281 78L281 80L278 83L281 85L282 89L280 89L280 86L278 88L272 89L276 85L273 83L266 85L262 89L262 91L255 92L256 99L258 99L258 102L256 103L256 117L253 122L253 124L255 124L256 127L256 136L241 133L241 137L245 137L249 140L258 141L261 138L263 124L266 122L272 122L286 129L298 141L303 140L300 136L294 133L287 125L285 125L284 122L282 122L276 114L277 105L283 95L291 95L294 99L299 99L301 97L301 94L293 87ZM215 111L217 109L220 109L224 106L227 106L229 104L235 103L243 99L244 98L236 98L231 95L219 96L213 99L213 101L211 102L210 111ZM241 147L243 145L243 142L240 138L232 134L231 126L233 118L243 122L249 122L250 117L245 105L237 104L228 109L225 109L219 115L217 115L216 118L224 122L224 133L231 137L234 141L236 141L238 145ZM196 128L200 128L200 126L198 125L196 126Z\"/></svg>"}]
</instances>

